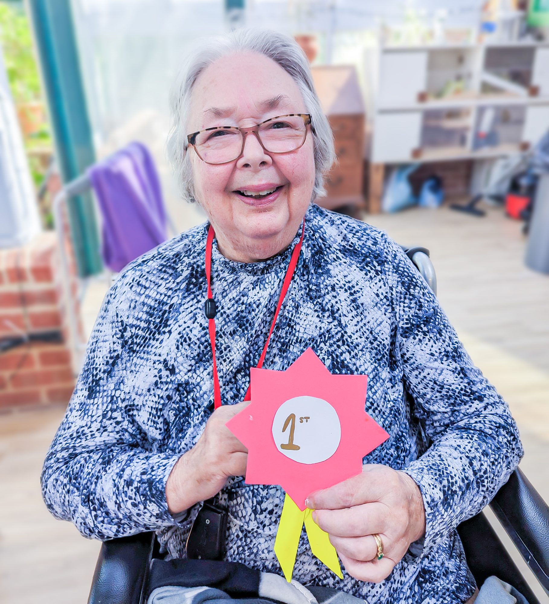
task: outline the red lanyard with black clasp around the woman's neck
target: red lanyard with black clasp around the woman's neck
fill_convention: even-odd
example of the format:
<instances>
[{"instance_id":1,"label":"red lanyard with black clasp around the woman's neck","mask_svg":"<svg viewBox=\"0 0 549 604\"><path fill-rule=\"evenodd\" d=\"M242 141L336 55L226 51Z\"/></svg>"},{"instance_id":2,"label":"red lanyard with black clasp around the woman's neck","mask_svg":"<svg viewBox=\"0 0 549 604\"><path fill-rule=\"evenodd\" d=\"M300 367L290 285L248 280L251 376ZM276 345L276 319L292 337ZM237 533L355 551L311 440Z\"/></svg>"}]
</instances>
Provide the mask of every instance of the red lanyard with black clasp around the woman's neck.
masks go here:
<instances>
[{"instance_id":1,"label":"red lanyard with black clasp around the woman's neck","mask_svg":"<svg viewBox=\"0 0 549 604\"><path fill-rule=\"evenodd\" d=\"M269 335L267 336L267 341L265 342L265 346L263 346L263 352L259 358L259 362L257 364L257 368L260 369L263 365L263 361L265 360L265 355L267 353L267 347L269 345L269 339L271 339L271 333L274 329L275 323L277 322L278 312L280 311L280 307L284 301L284 296L288 291L290 283L292 281L292 277L294 275L295 266L297 265L297 261L299 259L301 244L303 243L303 235L305 234L305 219L303 219L303 229L301 230L300 240L295 244L294 251L292 251L292 257L290 259L290 263L286 270L286 276L284 277L284 281L282 283L282 289L280 292L280 297L278 298L277 309L275 310L274 317L272 318L271 329L269 329ZM221 406L221 391L219 389L219 376L217 376L217 363L216 363L216 320L214 316L216 315L216 303L213 300L213 295L211 293L211 246L213 243L213 238L215 236L213 226L210 225L208 228L208 238L206 240L206 279L208 281L208 300L206 300L205 311L206 316L208 317L208 332L210 332L210 342L211 342L211 356L213 358L213 377L214 377L214 408ZM246 390L246 394L244 396L244 400L250 400L250 387L248 386L248 390Z\"/></svg>"}]
</instances>

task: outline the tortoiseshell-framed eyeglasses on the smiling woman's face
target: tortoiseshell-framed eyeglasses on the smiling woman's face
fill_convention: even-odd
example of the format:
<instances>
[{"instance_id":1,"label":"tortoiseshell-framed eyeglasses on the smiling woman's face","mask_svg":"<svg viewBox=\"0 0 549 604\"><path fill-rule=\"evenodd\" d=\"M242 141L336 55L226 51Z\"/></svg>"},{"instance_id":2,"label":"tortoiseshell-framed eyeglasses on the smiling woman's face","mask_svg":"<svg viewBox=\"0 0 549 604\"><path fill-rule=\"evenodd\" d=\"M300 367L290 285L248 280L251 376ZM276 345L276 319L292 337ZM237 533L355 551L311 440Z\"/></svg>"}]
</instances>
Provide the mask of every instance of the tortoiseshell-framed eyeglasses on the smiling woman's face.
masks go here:
<instances>
[{"instance_id":1,"label":"tortoiseshell-framed eyeglasses on the smiling woman's face","mask_svg":"<svg viewBox=\"0 0 549 604\"><path fill-rule=\"evenodd\" d=\"M214 126L188 135L188 144L207 164L228 164L240 158L244 141L253 132L268 153L296 151L305 142L307 126L312 126L309 114L278 115L249 128Z\"/></svg>"}]
</instances>

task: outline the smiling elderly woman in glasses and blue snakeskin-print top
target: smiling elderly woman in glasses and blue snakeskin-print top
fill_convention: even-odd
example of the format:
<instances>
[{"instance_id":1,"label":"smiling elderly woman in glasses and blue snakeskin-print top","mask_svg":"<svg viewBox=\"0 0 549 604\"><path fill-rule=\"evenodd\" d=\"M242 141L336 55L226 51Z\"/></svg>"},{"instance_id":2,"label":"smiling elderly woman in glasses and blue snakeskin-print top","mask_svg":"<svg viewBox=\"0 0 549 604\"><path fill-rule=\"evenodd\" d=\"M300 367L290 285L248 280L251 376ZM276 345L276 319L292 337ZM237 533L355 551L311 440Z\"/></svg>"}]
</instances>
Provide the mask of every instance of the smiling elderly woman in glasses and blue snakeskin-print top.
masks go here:
<instances>
[{"instance_id":1,"label":"smiling elderly woman in glasses and blue snakeskin-print top","mask_svg":"<svg viewBox=\"0 0 549 604\"><path fill-rule=\"evenodd\" d=\"M219 493L225 560L281 574L284 493L244 483L247 451L225 422L248 404L297 249L264 367L312 347L334 374L367 374L365 410L390 438L361 475L309 496L343 579L304 536L294 578L367 602L472 600L455 528L515 469L518 431L399 246L313 204L334 152L303 52L272 31L207 40L171 109L184 196L208 222L135 260L106 295L45 460L48 508L97 539L156 531L172 559Z\"/></svg>"}]
</instances>

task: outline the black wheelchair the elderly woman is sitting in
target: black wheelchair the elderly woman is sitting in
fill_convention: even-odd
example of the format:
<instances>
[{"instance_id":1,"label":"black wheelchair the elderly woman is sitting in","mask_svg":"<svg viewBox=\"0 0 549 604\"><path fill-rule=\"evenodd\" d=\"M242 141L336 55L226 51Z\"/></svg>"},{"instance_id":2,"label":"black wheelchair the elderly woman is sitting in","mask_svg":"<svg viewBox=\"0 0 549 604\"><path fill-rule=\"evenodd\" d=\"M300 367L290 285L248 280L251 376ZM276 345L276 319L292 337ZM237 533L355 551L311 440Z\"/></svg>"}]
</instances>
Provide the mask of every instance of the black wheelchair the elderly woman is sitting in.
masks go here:
<instances>
[{"instance_id":1,"label":"black wheelchair the elderly woman is sitting in","mask_svg":"<svg viewBox=\"0 0 549 604\"><path fill-rule=\"evenodd\" d=\"M436 294L434 268L425 248L403 248ZM524 561L549 596L549 507L520 469L489 504ZM541 604L483 512L458 528L467 564L478 585L495 575L529 604ZM159 557L154 532L104 541L88 604L145 604L150 568Z\"/></svg>"}]
</instances>

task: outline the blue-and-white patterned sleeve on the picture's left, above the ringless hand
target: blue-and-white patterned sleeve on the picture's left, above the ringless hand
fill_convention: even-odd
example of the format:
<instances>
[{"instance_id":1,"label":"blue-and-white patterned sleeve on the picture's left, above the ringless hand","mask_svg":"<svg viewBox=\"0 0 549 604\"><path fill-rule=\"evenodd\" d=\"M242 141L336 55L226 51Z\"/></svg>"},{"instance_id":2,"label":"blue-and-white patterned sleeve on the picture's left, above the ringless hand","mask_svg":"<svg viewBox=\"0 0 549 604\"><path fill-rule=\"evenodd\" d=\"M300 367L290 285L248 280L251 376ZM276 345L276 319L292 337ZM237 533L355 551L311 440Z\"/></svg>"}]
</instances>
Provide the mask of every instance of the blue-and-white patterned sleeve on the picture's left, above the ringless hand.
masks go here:
<instances>
[{"instance_id":1,"label":"blue-and-white patterned sleeve on the picture's left, above the ringless hand","mask_svg":"<svg viewBox=\"0 0 549 604\"><path fill-rule=\"evenodd\" d=\"M104 298L63 422L43 465L42 496L82 535L109 539L176 524L165 483L179 455L154 452L136 417L134 343L120 316L120 278Z\"/></svg>"}]
</instances>

